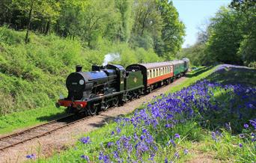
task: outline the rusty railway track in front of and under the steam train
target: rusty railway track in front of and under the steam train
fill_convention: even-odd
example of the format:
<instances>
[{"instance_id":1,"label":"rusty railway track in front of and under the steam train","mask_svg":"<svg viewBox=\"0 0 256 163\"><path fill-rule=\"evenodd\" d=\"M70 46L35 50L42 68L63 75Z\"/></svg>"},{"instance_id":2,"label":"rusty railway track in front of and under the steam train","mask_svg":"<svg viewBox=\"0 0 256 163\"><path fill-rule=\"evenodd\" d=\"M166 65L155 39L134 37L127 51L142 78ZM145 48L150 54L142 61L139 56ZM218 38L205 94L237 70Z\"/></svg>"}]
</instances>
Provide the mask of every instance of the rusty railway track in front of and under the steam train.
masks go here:
<instances>
[{"instance_id":1,"label":"rusty railway track in front of and under the steam train","mask_svg":"<svg viewBox=\"0 0 256 163\"><path fill-rule=\"evenodd\" d=\"M165 87L166 85L162 86ZM158 87L152 92L161 89L162 87ZM142 95L146 96L146 95ZM113 109L115 107L109 108ZM98 114L102 113L103 111L99 111ZM70 126L74 123L79 121L85 120L90 118L91 116L86 117L73 117L74 114L66 115L65 117L61 117L57 120L52 120L47 123L43 123L39 126L31 127L30 129L25 129L22 132L17 132L12 135L7 135L0 138L0 151L4 151L7 148L14 147L18 144L22 144L25 141L31 141L34 138L40 138L45 135L49 135L52 132L55 132L58 129L63 129L64 127Z\"/></svg>"}]
</instances>

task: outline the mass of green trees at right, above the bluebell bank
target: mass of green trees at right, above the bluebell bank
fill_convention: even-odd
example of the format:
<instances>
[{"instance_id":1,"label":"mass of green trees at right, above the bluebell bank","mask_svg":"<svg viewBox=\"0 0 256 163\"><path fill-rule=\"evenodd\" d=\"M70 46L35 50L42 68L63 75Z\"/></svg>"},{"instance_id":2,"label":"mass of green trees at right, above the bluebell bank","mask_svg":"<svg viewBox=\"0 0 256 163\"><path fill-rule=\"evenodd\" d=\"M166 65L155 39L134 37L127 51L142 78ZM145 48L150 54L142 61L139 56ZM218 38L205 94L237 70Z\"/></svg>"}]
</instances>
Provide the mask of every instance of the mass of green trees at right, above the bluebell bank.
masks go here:
<instances>
[{"instance_id":1,"label":"mass of green trees at right, above the bluebell bank","mask_svg":"<svg viewBox=\"0 0 256 163\"><path fill-rule=\"evenodd\" d=\"M193 65L216 63L256 67L256 1L233 0L216 15L198 25L195 45L184 48L177 58Z\"/></svg>"}]
</instances>

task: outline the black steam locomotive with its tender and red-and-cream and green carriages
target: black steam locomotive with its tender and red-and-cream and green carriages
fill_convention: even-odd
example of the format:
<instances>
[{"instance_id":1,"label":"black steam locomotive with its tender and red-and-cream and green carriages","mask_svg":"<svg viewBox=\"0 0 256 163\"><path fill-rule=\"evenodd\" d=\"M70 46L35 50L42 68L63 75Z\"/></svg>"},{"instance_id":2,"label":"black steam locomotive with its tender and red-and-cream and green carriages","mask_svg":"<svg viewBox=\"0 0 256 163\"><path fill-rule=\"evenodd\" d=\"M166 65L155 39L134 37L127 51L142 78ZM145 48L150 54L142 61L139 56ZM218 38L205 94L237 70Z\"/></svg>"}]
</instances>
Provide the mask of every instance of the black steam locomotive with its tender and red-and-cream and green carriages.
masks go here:
<instances>
[{"instance_id":1,"label":"black steam locomotive with its tender and red-and-cream and green carriages","mask_svg":"<svg viewBox=\"0 0 256 163\"><path fill-rule=\"evenodd\" d=\"M185 75L188 69L188 58L132 64L126 69L117 64L94 65L91 72L82 72L82 66L76 66L76 72L67 76L68 96L59 99L56 107L67 107L68 113L94 115L169 84Z\"/></svg>"}]
</instances>

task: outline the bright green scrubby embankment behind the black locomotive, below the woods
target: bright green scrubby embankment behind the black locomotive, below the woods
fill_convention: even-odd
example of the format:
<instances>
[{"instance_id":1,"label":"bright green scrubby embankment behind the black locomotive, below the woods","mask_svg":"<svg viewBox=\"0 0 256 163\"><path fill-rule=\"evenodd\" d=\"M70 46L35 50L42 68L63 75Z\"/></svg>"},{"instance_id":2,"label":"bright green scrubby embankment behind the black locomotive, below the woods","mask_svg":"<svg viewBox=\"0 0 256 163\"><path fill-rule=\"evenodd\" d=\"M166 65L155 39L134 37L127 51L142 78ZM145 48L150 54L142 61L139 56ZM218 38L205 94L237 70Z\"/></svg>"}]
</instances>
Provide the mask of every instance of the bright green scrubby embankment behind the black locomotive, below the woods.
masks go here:
<instances>
[{"instance_id":1,"label":"bright green scrubby embankment behind the black locomotive, below the woods","mask_svg":"<svg viewBox=\"0 0 256 163\"><path fill-rule=\"evenodd\" d=\"M126 43L105 41L100 49L88 49L81 40L55 34L31 33L30 43L24 37L24 31L0 28L0 114L53 105L60 94L66 96L65 79L76 64L91 70L92 64L103 64L109 52L120 54L112 63L124 67L162 60L153 51L131 49Z\"/></svg>"}]
</instances>

